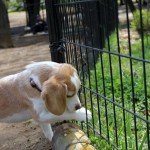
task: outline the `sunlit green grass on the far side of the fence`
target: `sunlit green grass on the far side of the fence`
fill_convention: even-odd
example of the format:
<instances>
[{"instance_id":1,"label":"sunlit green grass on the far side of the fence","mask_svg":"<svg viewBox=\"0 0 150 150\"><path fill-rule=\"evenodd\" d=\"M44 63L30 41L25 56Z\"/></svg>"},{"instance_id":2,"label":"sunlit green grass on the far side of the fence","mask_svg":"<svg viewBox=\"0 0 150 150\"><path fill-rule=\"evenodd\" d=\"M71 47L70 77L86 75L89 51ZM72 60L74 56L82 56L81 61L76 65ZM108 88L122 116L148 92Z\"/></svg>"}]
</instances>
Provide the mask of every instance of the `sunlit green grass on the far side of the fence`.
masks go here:
<instances>
[{"instance_id":1,"label":"sunlit green grass on the far side of the fence","mask_svg":"<svg viewBox=\"0 0 150 150\"><path fill-rule=\"evenodd\" d=\"M130 56L131 54L132 57L141 60L144 56L145 60L149 60L150 49L147 45L147 39L149 38L150 36L144 36L144 54L142 52L142 42L140 37L136 37L134 42L131 43L131 53L128 41L120 38L120 54L126 56ZM110 35L109 44L106 42L105 50L107 51L108 49L118 53L115 32ZM139 118L134 118L134 115L131 113L123 111L118 105L126 108L132 113L136 113L137 115L146 118L146 98L148 99L148 106L150 106L150 64L144 64L139 60L130 61L129 58L125 57L121 57L119 60L118 56L109 55L105 52L101 53L100 56L101 57L99 57L95 65L95 69L93 68L90 70L88 79L86 80L86 86L99 93L97 96L95 92L86 90L88 109L91 109L93 112L93 120L89 122L89 125L101 136L108 139L110 143L113 143L122 150L126 149L125 142L127 142L127 148L129 150L136 149L135 134L137 134L138 148L140 150L146 150L146 123ZM147 97L145 97L143 66L145 66L146 70ZM133 78L131 78L131 76ZM113 80L113 83L111 80ZM122 83L121 80L123 81ZM134 89L132 88L132 82ZM107 100L103 96L107 97ZM117 105L114 105L113 102ZM91 135L90 138L97 149L113 149L113 147L103 138L97 137L97 134L92 129L91 131L89 130L89 132Z\"/></svg>"}]
</instances>

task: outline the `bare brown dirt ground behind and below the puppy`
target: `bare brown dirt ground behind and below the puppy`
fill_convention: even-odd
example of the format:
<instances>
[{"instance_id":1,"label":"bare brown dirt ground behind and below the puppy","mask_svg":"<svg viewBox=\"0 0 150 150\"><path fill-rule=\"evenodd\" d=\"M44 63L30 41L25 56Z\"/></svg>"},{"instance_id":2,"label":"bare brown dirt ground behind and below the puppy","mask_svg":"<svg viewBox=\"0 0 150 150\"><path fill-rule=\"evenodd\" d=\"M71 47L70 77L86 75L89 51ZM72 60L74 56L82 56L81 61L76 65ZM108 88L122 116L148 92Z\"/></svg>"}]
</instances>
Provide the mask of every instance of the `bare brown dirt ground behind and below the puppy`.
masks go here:
<instances>
[{"instance_id":1,"label":"bare brown dirt ground behind and below the puppy","mask_svg":"<svg viewBox=\"0 0 150 150\"><path fill-rule=\"evenodd\" d=\"M24 13L9 16L14 48L0 49L0 78L17 73L32 61L50 60L48 35L23 36ZM32 121L0 124L0 150L50 150L51 143Z\"/></svg>"}]
</instances>

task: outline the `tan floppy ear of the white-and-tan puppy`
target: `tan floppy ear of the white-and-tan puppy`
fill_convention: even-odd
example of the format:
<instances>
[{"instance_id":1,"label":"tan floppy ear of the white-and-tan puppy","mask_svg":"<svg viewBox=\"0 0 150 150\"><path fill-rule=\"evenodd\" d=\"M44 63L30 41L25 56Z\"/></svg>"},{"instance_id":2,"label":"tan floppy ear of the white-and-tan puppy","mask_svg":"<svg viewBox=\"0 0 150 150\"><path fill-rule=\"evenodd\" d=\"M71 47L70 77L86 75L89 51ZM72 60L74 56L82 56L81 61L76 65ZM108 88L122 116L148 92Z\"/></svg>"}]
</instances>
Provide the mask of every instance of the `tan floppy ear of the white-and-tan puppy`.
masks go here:
<instances>
[{"instance_id":1,"label":"tan floppy ear of the white-and-tan puppy","mask_svg":"<svg viewBox=\"0 0 150 150\"><path fill-rule=\"evenodd\" d=\"M66 93L66 84L55 78L45 81L41 96L47 110L55 115L63 114L66 109Z\"/></svg>"}]
</instances>

